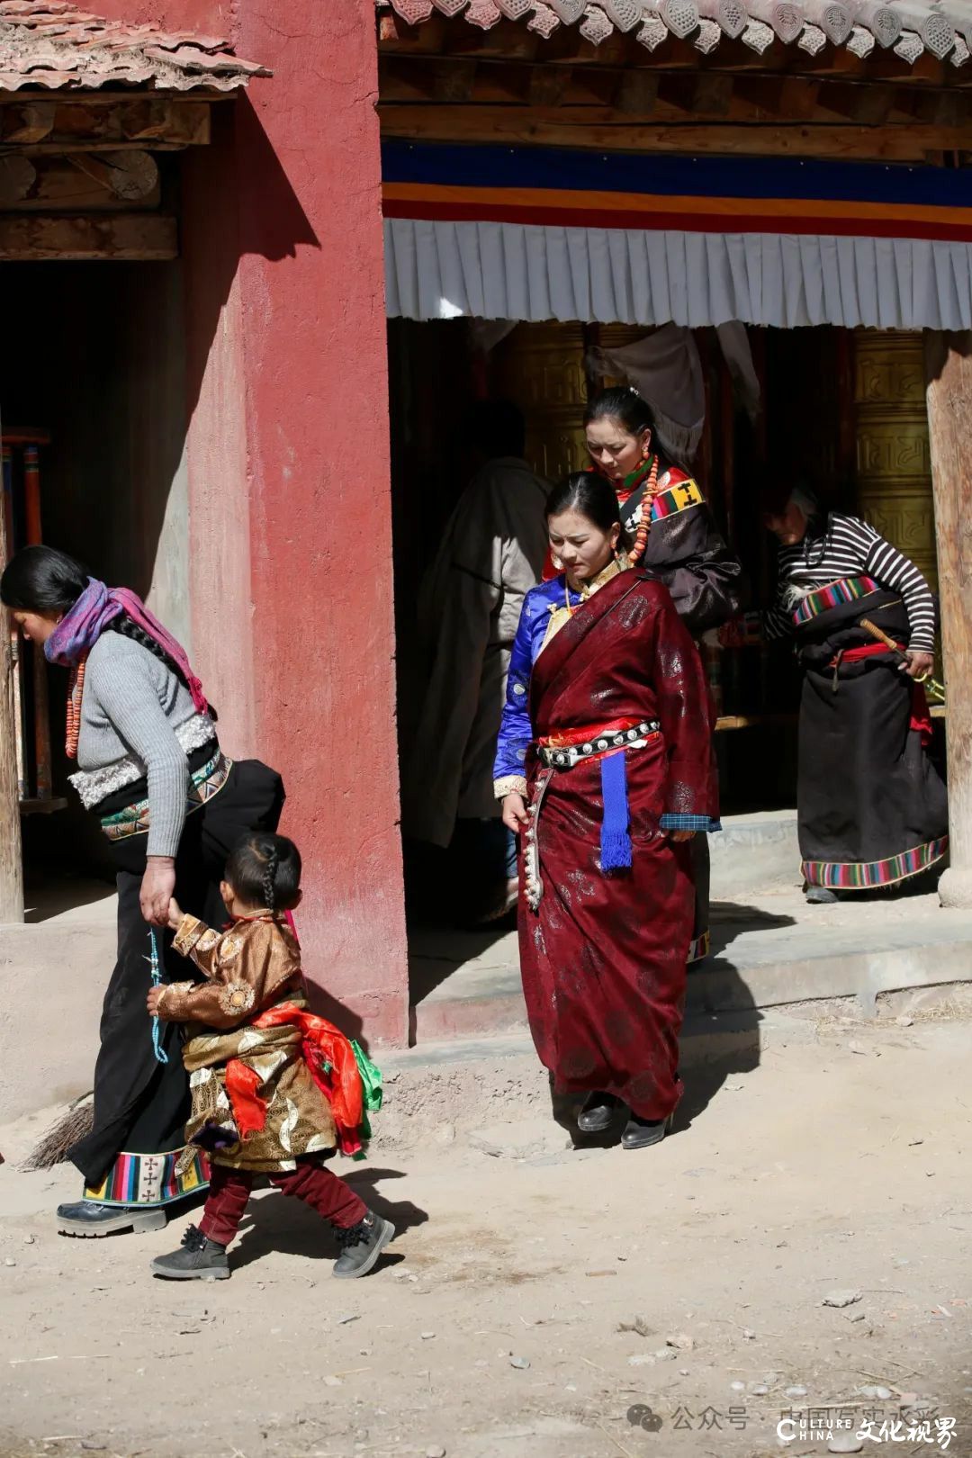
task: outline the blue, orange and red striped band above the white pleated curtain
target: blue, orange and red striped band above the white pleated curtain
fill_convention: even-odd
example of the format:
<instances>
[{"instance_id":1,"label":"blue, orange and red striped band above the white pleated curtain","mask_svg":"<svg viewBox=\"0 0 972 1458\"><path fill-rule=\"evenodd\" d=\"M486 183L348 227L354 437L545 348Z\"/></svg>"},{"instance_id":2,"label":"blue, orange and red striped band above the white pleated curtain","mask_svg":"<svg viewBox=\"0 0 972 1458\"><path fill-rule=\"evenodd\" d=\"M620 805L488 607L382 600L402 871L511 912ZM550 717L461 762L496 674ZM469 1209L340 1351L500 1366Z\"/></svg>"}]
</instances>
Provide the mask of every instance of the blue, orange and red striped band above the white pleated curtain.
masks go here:
<instances>
[{"instance_id":1,"label":"blue, orange and red striped band above the white pleated curtain","mask_svg":"<svg viewBox=\"0 0 972 1458\"><path fill-rule=\"evenodd\" d=\"M972 242L972 169L382 144L388 219Z\"/></svg>"}]
</instances>

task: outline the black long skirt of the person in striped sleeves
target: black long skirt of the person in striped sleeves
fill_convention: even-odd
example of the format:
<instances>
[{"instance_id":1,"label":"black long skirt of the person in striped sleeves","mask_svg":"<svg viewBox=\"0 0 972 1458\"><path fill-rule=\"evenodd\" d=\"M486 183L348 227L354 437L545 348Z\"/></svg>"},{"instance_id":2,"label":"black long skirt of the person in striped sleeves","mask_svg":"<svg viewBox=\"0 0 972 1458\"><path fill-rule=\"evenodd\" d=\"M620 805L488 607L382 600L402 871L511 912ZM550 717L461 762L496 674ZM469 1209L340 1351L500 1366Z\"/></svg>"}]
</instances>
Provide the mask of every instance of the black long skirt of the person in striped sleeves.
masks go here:
<instances>
[{"instance_id":1,"label":"black long skirt of the person in striped sleeves","mask_svg":"<svg viewBox=\"0 0 972 1458\"><path fill-rule=\"evenodd\" d=\"M890 653L804 662L797 828L809 885L890 886L947 851L947 796L911 728L912 681Z\"/></svg>"}]
</instances>

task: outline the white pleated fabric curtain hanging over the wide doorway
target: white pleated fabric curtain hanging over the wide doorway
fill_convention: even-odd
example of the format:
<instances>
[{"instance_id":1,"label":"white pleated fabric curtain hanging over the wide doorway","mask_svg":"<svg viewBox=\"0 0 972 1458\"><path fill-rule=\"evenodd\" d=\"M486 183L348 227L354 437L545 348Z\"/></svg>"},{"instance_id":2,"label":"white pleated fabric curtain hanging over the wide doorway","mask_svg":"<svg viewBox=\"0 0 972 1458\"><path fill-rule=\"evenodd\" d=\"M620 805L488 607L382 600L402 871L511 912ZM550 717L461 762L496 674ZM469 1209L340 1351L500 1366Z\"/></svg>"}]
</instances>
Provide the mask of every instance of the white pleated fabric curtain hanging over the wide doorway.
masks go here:
<instances>
[{"instance_id":1,"label":"white pleated fabric curtain hanging over the wide doorway","mask_svg":"<svg viewBox=\"0 0 972 1458\"><path fill-rule=\"evenodd\" d=\"M972 328L972 248L388 219L391 318Z\"/></svg>"}]
</instances>

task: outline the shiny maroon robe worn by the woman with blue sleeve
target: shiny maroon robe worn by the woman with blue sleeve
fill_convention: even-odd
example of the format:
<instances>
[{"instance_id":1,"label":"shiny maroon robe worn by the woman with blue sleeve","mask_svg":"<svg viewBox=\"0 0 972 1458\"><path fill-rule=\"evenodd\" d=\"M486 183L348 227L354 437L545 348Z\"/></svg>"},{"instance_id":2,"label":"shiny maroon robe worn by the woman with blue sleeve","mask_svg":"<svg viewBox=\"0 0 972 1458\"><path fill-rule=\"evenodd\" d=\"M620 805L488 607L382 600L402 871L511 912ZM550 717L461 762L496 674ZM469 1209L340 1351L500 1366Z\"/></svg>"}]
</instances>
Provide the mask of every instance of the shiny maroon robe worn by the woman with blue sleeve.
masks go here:
<instances>
[{"instance_id":1,"label":"shiny maroon robe worn by the woman with blue sleeve","mask_svg":"<svg viewBox=\"0 0 972 1458\"><path fill-rule=\"evenodd\" d=\"M557 1091L616 1094L654 1120L681 1095L694 916L689 843L675 844L659 819L716 818L718 790L699 655L667 588L637 570L577 609L530 679L535 738L618 719L662 725L644 748L625 751L631 869L600 870L600 761L554 771L535 821L538 910L520 895L520 965L536 1051ZM535 746L526 768L533 799L544 768Z\"/></svg>"}]
</instances>

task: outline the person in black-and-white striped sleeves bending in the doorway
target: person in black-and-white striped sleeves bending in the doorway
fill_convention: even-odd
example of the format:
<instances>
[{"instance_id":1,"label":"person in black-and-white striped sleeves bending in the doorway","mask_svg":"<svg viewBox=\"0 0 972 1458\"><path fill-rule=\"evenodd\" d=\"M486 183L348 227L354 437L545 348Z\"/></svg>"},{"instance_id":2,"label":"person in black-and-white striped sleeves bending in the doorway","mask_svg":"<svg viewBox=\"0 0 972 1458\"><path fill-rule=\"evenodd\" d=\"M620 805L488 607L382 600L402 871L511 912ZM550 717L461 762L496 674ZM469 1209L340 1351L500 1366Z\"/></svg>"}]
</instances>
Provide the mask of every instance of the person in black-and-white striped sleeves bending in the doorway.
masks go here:
<instances>
[{"instance_id":1,"label":"person in black-and-white striped sleeves bending in the doorway","mask_svg":"<svg viewBox=\"0 0 972 1458\"><path fill-rule=\"evenodd\" d=\"M931 589L873 526L820 512L801 487L771 493L764 523L780 541L764 628L771 639L793 634L803 668L797 825L807 901L908 884L949 846L921 687L934 663Z\"/></svg>"}]
</instances>

